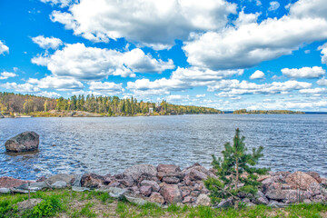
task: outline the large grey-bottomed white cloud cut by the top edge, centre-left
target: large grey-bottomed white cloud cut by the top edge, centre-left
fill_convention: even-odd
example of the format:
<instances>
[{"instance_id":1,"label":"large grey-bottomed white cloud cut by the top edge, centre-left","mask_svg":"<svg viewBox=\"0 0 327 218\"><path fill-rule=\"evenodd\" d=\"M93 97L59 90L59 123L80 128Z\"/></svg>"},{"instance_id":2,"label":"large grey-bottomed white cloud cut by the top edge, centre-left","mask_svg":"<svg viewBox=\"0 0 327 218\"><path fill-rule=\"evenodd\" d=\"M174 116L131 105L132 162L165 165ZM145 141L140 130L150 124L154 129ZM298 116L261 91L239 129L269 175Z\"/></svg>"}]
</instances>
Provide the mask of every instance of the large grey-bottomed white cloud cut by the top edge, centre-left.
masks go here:
<instances>
[{"instance_id":1,"label":"large grey-bottomed white cloud cut by the top edge, centre-left","mask_svg":"<svg viewBox=\"0 0 327 218\"><path fill-rule=\"evenodd\" d=\"M84 0L68 12L54 11L51 20L94 42L124 37L161 50L192 32L223 28L235 13L225 0Z\"/></svg>"}]
</instances>

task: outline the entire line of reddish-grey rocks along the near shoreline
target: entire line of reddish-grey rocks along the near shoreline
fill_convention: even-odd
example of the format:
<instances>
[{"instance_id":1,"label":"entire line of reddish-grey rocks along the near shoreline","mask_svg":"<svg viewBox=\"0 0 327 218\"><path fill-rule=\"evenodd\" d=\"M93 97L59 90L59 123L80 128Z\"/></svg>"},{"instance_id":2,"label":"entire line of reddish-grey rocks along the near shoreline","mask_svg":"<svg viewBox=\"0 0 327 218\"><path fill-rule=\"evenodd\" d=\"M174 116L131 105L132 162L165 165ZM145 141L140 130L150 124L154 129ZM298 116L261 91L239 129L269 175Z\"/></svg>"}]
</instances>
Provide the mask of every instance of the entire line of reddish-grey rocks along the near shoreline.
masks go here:
<instances>
[{"instance_id":1,"label":"entire line of reddish-grey rocks along the near shoreline","mask_svg":"<svg viewBox=\"0 0 327 218\"><path fill-rule=\"evenodd\" d=\"M246 176L246 175L243 175ZM209 190L203 180L216 177L213 169L206 169L195 163L183 170L173 164L137 164L124 173L99 175L55 174L36 181L24 181L12 177L0 177L0 193L28 193L46 188L59 189L72 187L74 192L100 191L115 198L144 204L159 205L186 203L213 207L233 205L233 198L213 205ZM262 183L256 194L239 194L240 201L247 206L265 204L272 207L285 207L291 203L324 203L327 201L327 179L315 172L270 172L259 176Z\"/></svg>"}]
</instances>

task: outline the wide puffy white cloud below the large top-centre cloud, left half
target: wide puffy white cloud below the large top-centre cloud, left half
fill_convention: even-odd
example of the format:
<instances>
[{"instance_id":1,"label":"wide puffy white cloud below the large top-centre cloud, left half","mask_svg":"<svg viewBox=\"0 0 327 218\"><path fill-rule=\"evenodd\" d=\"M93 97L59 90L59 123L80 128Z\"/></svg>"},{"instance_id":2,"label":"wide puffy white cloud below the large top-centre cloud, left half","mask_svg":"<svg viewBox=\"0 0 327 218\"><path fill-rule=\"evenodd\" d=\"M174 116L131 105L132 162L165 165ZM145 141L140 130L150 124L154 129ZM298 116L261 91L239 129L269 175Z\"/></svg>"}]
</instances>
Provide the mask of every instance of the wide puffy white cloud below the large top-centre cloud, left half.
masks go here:
<instances>
[{"instance_id":1,"label":"wide puffy white cloud below the large top-centre cloud, left half","mask_svg":"<svg viewBox=\"0 0 327 218\"><path fill-rule=\"evenodd\" d=\"M139 48L122 53L86 47L80 43L65 45L54 54L38 55L32 59L32 63L47 66L56 76L71 76L82 80L98 80L108 75L134 77L134 73L161 73L174 68L172 60L156 60Z\"/></svg>"}]
</instances>

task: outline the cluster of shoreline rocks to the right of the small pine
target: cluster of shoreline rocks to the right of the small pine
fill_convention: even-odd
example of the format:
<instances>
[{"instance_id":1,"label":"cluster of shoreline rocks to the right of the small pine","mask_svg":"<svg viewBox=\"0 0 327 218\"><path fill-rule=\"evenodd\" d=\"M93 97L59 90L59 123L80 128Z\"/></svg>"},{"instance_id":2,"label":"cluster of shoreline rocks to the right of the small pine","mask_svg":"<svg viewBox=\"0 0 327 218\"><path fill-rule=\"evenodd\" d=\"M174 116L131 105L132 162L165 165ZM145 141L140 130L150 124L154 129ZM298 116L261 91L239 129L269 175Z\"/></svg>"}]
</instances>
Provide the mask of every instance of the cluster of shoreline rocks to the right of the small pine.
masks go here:
<instances>
[{"instance_id":1,"label":"cluster of shoreline rocks to the right of the small pine","mask_svg":"<svg viewBox=\"0 0 327 218\"><path fill-rule=\"evenodd\" d=\"M237 198L223 200L216 206L230 206L235 201L242 201L248 206L265 204L272 207L286 207L290 203L327 202L327 179L315 172L271 172L259 176L258 181L262 185L256 194L239 193Z\"/></svg>"}]
</instances>

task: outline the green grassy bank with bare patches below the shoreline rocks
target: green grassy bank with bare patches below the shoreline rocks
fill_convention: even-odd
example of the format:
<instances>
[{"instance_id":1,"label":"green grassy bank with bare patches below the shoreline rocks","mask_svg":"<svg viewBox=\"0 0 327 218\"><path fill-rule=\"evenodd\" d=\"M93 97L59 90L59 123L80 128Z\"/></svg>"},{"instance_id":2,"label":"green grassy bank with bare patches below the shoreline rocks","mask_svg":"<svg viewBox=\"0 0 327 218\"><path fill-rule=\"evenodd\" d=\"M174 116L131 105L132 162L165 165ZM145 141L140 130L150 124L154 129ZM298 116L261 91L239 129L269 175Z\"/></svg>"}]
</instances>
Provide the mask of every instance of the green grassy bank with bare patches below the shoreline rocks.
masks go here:
<instances>
[{"instance_id":1,"label":"green grassy bank with bare patches below the shoreline rocks","mask_svg":"<svg viewBox=\"0 0 327 218\"><path fill-rule=\"evenodd\" d=\"M0 195L0 217L327 217L327 205L321 203L284 209L263 205L238 210L186 205L163 209L154 203L138 206L117 201L108 193L75 193L68 189L31 193L31 198L44 201L32 209L19 211L16 203L27 200L28 194Z\"/></svg>"}]
</instances>

